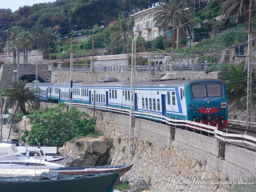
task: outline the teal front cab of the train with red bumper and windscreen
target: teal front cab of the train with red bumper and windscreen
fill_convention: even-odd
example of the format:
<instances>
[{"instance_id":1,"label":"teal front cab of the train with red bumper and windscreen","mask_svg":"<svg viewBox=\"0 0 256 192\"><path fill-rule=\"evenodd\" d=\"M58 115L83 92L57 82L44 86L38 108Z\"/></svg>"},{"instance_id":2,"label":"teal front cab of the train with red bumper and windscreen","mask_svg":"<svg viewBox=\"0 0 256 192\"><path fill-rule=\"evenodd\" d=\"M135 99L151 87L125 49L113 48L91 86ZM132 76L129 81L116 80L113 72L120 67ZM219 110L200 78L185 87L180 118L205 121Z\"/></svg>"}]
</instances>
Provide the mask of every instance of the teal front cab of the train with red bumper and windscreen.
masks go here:
<instances>
[{"instance_id":1,"label":"teal front cab of the train with red bumper and windscreen","mask_svg":"<svg viewBox=\"0 0 256 192\"><path fill-rule=\"evenodd\" d=\"M220 80L189 83L186 95L188 120L224 129L228 124L226 85ZM197 130L196 130L197 131Z\"/></svg>"}]
</instances>

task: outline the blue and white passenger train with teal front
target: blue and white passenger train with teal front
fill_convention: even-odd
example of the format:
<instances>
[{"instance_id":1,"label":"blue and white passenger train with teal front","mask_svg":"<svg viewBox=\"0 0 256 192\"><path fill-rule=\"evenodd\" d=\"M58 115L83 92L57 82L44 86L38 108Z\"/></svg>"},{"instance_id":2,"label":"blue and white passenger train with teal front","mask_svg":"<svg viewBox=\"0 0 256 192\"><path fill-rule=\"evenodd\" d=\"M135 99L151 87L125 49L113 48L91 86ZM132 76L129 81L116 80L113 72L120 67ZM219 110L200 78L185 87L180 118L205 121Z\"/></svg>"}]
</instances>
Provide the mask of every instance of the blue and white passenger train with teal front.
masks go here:
<instances>
[{"instance_id":1,"label":"blue and white passenger train with teal front","mask_svg":"<svg viewBox=\"0 0 256 192\"><path fill-rule=\"evenodd\" d=\"M27 86L31 85L28 83ZM41 100L94 104L106 108L128 109L131 106L131 82L106 77L99 82L37 83ZM70 90L70 87L71 90ZM160 74L151 81L135 81L134 110L173 119L217 126L228 124L226 85L220 79L182 79L175 73Z\"/></svg>"}]
</instances>

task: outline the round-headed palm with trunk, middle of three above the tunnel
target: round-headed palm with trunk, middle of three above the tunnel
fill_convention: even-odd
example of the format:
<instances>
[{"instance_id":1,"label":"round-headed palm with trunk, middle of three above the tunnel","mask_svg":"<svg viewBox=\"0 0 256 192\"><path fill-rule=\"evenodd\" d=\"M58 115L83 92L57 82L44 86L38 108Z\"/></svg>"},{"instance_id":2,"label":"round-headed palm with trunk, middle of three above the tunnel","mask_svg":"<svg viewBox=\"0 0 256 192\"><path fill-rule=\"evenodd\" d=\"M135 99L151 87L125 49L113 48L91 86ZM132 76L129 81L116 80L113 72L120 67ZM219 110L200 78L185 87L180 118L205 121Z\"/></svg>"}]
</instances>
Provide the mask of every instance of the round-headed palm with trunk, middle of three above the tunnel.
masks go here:
<instances>
[{"instance_id":1,"label":"round-headed palm with trunk, middle of three above the tunnel","mask_svg":"<svg viewBox=\"0 0 256 192\"><path fill-rule=\"evenodd\" d=\"M28 31L23 31L19 36L19 42L23 46L23 63L28 63L28 48L33 45L34 36Z\"/></svg>"}]
</instances>

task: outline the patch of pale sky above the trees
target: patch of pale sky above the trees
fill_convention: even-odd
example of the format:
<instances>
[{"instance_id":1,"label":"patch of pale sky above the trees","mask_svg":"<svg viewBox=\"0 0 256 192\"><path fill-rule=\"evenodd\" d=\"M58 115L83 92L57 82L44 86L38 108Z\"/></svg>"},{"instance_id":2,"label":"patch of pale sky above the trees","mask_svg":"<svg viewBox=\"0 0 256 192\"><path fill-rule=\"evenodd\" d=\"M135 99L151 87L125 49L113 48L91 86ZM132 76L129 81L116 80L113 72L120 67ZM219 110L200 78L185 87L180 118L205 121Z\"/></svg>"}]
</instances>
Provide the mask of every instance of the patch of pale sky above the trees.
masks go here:
<instances>
[{"instance_id":1,"label":"patch of pale sky above the trees","mask_svg":"<svg viewBox=\"0 0 256 192\"><path fill-rule=\"evenodd\" d=\"M19 9L19 7L23 7L24 5L38 4L38 3L48 3L54 2L56 0L0 0L0 9L11 9L12 12L15 12Z\"/></svg>"}]
</instances>

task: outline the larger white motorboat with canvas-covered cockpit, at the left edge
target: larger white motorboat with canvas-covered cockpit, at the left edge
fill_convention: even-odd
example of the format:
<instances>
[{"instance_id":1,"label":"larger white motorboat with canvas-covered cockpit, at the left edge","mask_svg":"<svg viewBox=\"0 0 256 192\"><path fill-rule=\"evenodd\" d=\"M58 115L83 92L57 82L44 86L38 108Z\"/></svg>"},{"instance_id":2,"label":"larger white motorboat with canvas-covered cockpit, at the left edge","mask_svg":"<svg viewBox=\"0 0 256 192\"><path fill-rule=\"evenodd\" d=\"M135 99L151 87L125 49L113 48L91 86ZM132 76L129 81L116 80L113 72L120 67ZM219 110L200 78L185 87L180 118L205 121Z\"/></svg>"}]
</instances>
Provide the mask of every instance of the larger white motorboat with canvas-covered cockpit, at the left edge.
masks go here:
<instances>
[{"instance_id":1,"label":"larger white motorboat with canvas-covered cockpit, at the left edge","mask_svg":"<svg viewBox=\"0 0 256 192\"><path fill-rule=\"evenodd\" d=\"M0 143L0 169L55 169L64 165L20 153L13 144Z\"/></svg>"}]
</instances>

